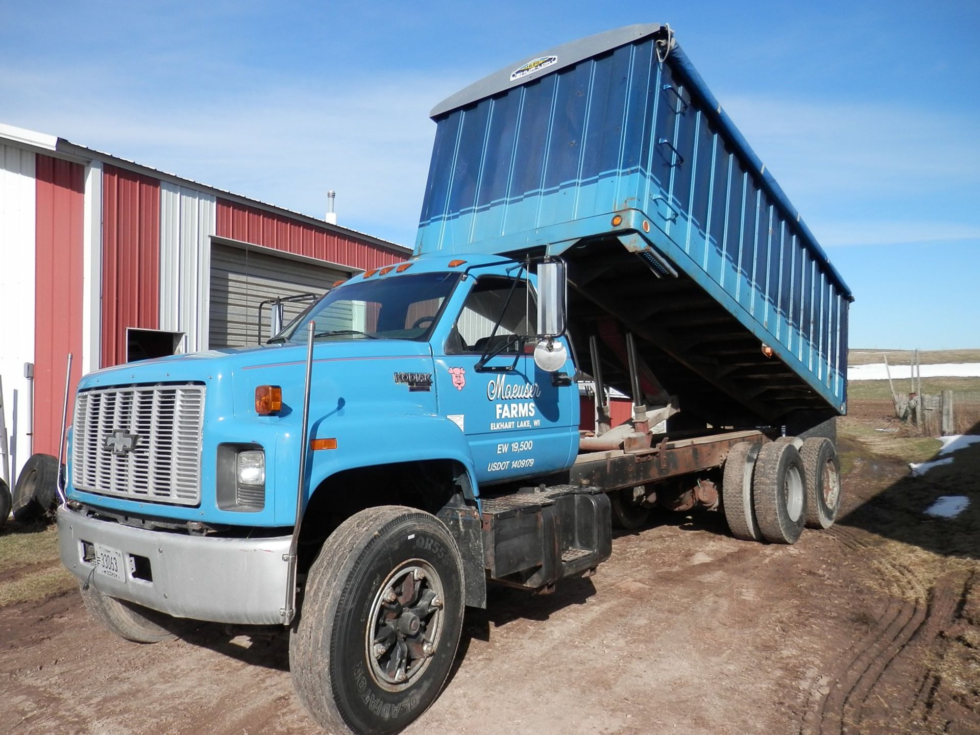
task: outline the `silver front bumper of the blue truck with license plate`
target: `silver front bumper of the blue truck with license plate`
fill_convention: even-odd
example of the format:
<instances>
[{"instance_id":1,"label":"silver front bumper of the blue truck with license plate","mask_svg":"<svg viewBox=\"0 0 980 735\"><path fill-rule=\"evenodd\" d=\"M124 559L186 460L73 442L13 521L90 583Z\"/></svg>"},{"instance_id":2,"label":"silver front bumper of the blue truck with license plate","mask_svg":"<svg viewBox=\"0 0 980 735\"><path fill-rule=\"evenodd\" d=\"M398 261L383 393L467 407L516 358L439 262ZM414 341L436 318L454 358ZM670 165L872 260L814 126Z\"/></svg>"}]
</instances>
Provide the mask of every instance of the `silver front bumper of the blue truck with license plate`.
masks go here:
<instances>
[{"instance_id":1,"label":"silver front bumper of the blue truck with license plate","mask_svg":"<svg viewBox=\"0 0 980 735\"><path fill-rule=\"evenodd\" d=\"M84 559L82 542L122 552L125 581L96 573ZM283 623L289 542L289 536L238 539L151 531L58 509L58 544L69 571L100 592L175 617Z\"/></svg>"}]
</instances>

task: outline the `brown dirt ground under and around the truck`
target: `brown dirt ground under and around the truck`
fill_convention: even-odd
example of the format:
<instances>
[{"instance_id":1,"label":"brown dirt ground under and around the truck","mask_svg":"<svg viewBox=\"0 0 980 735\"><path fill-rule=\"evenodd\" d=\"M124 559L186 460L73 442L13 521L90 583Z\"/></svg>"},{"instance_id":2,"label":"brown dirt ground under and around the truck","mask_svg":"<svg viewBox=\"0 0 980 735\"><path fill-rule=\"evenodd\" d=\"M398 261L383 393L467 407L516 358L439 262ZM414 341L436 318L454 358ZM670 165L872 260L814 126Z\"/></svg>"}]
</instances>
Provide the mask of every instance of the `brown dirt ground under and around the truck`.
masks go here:
<instances>
[{"instance_id":1,"label":"brown dirt ground under and around the truck","mask_svg":"<svg viewBox=\"0 0 980 735\"><path fill-rule=\"evenodd\" d=\"M842 421L846 515L830 531L777 547L734 540L716 513L657 515L592 579L493 590L407 732L980 732L980 445L910 477L939 443L889 409ZM972 503L923 515L942 495ZM0 732L319 732L286 644L201 624L140 646L75 591L14 602L0 607Z\"/></svg>"}]
</instances>

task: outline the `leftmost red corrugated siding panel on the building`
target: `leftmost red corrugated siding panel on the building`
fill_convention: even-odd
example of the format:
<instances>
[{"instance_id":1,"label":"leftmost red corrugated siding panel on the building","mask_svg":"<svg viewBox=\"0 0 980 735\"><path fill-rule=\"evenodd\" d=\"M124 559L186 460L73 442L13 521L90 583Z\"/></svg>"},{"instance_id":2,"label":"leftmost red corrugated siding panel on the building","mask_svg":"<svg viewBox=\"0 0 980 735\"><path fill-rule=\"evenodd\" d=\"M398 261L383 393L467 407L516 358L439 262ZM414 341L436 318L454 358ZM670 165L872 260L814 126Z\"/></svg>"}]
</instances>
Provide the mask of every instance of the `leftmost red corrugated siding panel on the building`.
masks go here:
<instances>
[{"instance_id":1,"label":"leftmost red corrugated siding panel on the building","mask_svg":"<svg viewBox=\"0 0 980 735\"><path fill-rule=\"evenodd\" d=\"M34 452L57 456L70 352L70 406L81 377L84 168L38 155L36 175Z\"/></svg>"}]
</instances>

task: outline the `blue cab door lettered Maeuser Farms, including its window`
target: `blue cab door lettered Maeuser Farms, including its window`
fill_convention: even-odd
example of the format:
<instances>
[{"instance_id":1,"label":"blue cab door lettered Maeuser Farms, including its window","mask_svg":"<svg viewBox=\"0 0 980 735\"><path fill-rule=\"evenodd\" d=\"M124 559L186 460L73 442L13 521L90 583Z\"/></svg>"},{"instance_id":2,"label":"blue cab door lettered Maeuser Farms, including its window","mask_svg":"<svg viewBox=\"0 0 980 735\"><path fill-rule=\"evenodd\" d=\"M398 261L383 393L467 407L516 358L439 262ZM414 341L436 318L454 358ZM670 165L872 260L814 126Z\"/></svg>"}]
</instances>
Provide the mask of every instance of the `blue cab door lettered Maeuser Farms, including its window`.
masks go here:
<instances>
[{"instance_id":1,"label":"blue cab door lettered Maeuser Farms, including its window","mask_svg":"<svg viewBox=\"0 0 980 735\"><path fill-rule=\"evenodd\" d=\"M500 324L494 334L494 325ZM573 384L539 370L515 336L536 333L537 305L524 278L483 275L436 354L439 413L466 434L481 484L553 472L568 466L578 445L578 396ZM506 345L478 368L484 350ZM570 375L571 372L569 371Z\"/></svg>"}]
</instances>

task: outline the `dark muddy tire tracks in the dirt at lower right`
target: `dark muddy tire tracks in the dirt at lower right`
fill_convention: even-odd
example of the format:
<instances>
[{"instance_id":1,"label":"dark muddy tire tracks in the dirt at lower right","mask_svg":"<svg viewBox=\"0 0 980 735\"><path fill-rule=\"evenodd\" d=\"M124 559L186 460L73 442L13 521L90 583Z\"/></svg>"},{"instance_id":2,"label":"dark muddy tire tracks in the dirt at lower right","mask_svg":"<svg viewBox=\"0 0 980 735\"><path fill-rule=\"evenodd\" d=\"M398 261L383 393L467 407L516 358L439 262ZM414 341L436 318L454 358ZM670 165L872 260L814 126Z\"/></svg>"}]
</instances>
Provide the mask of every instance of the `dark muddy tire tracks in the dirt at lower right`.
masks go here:
<instances>
[{"instance_id":1,"label":"dark muddy tire tracks in the dirt at lower right","mask_svg":"<svg viewBox=\"0 0 980 735\"><path fill-rule=\"evenodd\" d=\"M835 526L830 537L864 554L874 546L853 529ZM895 725L923 722L930 709L932 672L925 662L929 647L956 617L960 582L933 587L923 594L915 572L906 564L877 559L900 596L890 595L877 622L845 651L829 676L810 691L801 735L853 735ZM916 716L917 715L917 716Z\"/></svg>"}]
</instances>

